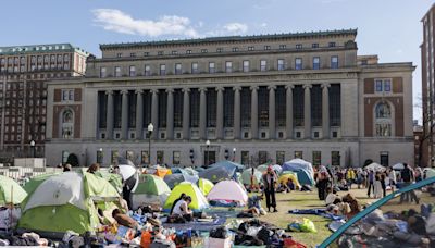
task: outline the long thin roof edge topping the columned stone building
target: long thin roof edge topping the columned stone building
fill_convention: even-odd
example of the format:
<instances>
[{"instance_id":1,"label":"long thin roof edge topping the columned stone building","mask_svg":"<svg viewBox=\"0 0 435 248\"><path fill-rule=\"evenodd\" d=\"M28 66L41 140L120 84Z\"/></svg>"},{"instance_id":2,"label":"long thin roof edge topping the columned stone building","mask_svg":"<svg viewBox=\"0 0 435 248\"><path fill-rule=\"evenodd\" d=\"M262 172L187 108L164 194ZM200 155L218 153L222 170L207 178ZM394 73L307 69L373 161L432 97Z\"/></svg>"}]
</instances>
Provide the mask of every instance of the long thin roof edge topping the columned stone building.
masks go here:
<instances>
[{"instance_id":1,"label":"long thin roof edge topping the columned stone building","mask_svg":"<svg viewBox=\"0 0 435 248\"><path fill-rule=\"evenodd\" d=\"M268 34L268 35L249 35L249 36L222 36L222 37L206 37L197 39L179 39L179 40L156 40L127 44L100 44L100 49L121 49L121 48L137 48L152 47L166 45L187 45L187 44L210 44L210 42L234 42L248 40L264 40L264 39L300 39L300 38L319 38L327 36L357 36L358 29L341 29L341 30L323 30L323 32L303 32L303 33L285 33L285 34Z\"/></svg>"}]
</instances>

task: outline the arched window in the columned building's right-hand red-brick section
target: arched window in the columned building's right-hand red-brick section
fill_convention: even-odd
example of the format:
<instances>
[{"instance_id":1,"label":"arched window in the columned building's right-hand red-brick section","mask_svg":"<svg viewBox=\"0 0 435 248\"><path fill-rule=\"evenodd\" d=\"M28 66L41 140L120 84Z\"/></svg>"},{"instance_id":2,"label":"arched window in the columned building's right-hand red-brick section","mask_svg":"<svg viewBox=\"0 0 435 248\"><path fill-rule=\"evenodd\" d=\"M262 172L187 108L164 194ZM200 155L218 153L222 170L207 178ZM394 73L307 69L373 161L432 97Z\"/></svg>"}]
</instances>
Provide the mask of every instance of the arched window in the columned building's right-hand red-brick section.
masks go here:
<instances>
[{"instance_id":1,"label":"arched window in the columned building's right-hand red-brick section","mask_svg":"<svg viewBox=\"0 0 435 248\"><path fill-rule=\"evenodd\" d=\"M375 107L375 131L377 137L393 136L393 111L387 102L380 102Z\"/></svg>"}]
</instances>

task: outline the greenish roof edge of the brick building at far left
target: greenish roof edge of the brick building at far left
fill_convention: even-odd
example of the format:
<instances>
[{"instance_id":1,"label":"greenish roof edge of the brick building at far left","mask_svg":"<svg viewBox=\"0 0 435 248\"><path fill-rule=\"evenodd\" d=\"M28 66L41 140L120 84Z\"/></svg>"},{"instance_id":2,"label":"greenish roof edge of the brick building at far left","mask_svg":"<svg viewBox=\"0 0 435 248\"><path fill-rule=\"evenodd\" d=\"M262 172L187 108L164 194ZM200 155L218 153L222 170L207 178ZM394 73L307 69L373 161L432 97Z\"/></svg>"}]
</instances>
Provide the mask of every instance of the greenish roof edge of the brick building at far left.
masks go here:
<instances>
[{"instance_id":1,"label":"greenish roof edge of the brick building at far left","mask_svg":"<svg viewBox=\"0 0 435 248\"><path fill-rule=\"evenodd\" d=\"M25 54L25 53L38 53L38 52L73 52L77 51L85 55L89 53L85 50L74 47L71 44L46 44L46 45L24 45L24 46L10 46L0 47L0 55L11 55L11 54Z\"/></svg>"}]
</instances>

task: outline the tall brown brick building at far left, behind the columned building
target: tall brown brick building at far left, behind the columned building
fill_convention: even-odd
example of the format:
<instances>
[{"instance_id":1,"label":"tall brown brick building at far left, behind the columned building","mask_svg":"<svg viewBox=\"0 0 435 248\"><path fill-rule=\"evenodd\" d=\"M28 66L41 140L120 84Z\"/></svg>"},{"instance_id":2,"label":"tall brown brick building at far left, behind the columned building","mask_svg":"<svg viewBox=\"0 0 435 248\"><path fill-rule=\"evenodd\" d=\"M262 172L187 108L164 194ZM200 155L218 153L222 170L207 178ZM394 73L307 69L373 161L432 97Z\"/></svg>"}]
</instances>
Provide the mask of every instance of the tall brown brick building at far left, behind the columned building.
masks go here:
<instances>
[{"instance_id":1,"label":"tall brown brick building at far left, behind the columned building","mask_svg":"<svg viewBox=\"0 0 435 248\"><path fill-rule=\"evenodd\" d=\"M71 44L0 47L1 159L45 156L46 82L84 76L87 57Z\"/></svg>"}]
</instances>

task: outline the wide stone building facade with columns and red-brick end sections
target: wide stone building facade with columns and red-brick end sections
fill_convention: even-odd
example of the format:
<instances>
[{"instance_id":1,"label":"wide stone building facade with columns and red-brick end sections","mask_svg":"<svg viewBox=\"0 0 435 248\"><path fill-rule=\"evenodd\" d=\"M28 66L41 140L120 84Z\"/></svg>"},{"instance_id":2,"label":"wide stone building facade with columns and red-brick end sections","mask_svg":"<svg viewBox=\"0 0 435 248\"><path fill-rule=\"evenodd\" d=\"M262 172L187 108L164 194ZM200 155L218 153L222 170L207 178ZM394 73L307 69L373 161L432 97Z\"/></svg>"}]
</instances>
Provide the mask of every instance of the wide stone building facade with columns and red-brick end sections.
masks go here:
<instances>
[{"instance_id":1,"label":"wide stone building facade with columns and red-brick end sections","mask_svg":"<svg viewBox=\"0 0 435 248\"><path fill-rule=\"evenodd\" d=\"M74 153L83 165L116 156L136 164L412 163L414 66L358 57L356 36L101 45L85 77L49 83L47 161ZM62 100L65 89L77 98Z\"/></svg>"}]
</instances>

